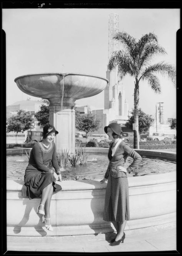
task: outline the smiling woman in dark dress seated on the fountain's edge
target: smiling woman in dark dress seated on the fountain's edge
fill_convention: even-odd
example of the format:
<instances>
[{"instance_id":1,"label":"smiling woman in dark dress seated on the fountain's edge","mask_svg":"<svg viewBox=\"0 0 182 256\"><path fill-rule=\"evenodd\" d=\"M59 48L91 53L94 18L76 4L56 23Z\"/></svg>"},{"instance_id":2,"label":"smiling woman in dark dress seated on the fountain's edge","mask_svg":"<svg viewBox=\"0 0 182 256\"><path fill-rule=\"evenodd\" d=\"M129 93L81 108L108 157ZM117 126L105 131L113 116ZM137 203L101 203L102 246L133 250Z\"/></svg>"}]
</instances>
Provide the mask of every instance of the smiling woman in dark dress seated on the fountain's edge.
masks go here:
<instances>
[{"instance_id":1,"label":"smiling woman in dark dress seated on the fountain's edge","mask_svg":"<svg viewBox=\"0 0 182 256\"><path fill-rule=\"evenodd\" d=\"M33 146L25 170L23 187L26 190L22 189L22 196L28 196L29 199L41 197L37 214L42 216L42 222L49 231L53 231L50 222L50 200L53 192L62 190L62 187L55 183L56 180L62 180L53 142L57 134L58 131L53 125L47 124L43 127L43 139ZM49 167L50 162L55 171Z\"/></svg>"}]
</instances>

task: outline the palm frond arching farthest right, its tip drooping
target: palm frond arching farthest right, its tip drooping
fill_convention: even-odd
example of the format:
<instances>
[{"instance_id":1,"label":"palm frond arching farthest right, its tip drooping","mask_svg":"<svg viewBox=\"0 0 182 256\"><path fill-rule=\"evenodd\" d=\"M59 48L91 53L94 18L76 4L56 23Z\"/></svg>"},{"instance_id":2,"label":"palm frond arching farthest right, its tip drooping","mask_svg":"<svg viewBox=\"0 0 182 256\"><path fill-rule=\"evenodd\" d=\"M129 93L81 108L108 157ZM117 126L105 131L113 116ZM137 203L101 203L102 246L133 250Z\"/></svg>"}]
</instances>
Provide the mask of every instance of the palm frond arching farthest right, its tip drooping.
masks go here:
<instances>
[{"instance_id":1,"label":"palm frond arching farthest right, its tip drooping","mask_svg":"<svg viewBox=\"0 0 182 256\"><path fill-rule=\"evenodd\" d=\"M160 63L153 64L149 67L147 67L143 73L140 79L143 76L150 75L152 73L159 73L162 76L168 76L168 78L172 81L172 83L175 85L176 83L176 70L175 67L170 65L169 63L164 63L164 61Z\"/></svg>"}]
</instances>

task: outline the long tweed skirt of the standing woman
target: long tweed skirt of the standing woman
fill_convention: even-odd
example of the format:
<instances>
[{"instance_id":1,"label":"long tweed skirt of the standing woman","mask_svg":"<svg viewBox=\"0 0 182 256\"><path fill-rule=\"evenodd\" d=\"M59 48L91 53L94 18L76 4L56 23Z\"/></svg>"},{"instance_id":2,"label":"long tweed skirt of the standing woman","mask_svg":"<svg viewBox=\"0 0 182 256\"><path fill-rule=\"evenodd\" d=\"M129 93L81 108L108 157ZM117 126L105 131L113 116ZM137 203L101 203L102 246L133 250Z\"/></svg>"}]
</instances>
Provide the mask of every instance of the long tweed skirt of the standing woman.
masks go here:
<instances>
[{"instance_id":1,"label":"long tweed skirt of the standing woman","mask_svg":"<svg viewBox=\"0 0 182 256\"><path fill-rule=\"evenodd\" d=\"M130 219L128 178L108 175L105 192L105 221L120 222Z\"/></svg>"}]
</instances>

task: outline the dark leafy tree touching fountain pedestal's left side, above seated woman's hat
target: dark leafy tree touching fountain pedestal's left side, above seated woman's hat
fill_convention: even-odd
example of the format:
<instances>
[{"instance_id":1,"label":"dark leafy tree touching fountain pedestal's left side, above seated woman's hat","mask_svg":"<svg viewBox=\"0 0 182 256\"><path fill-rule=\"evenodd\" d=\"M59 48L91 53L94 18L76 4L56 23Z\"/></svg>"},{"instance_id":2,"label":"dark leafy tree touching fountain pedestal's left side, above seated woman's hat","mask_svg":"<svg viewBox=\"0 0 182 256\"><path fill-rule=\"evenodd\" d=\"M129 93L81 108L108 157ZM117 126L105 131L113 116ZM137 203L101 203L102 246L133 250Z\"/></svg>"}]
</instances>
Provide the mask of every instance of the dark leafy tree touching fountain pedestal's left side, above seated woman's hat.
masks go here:
<instances>
[{"instance_id":1,"label":"dark leafy tree touching fountain pedestal's left side, above seated woman's hat","mask_svg":"<svg viewBox=\"0 0 182 256\"><path fill-rule=\"evenodd\" d=\"M43 127L49 123L49 101L43 100L43 104L40 106L40 110L35 113L35 118L38 121L38 125Z\"/></svg>"}]
</instances>

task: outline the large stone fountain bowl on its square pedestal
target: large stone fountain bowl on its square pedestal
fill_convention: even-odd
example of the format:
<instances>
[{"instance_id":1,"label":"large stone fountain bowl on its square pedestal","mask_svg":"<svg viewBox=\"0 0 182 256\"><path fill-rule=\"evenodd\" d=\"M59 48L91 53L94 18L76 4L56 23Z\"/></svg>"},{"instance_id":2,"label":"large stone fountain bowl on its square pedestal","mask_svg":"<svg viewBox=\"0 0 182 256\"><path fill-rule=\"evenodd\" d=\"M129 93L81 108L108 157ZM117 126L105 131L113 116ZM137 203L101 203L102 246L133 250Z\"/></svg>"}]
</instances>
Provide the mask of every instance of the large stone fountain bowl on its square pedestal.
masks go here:
<instances>
[{"instance_id":1,"label":"large stone fountain bowl on its square pedestal","mask_svg":"<svg viewBox=\"0 0 182 256\"><path fill-rule=\"evenodd\" d=\"M58 130L55 137L57 151L75 152L75 100L102 92L108 80L79 73L44 73L15 78L18 88L28 95L50 102L50 124Z\"/></svg>"}]
</instances>

